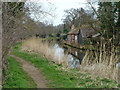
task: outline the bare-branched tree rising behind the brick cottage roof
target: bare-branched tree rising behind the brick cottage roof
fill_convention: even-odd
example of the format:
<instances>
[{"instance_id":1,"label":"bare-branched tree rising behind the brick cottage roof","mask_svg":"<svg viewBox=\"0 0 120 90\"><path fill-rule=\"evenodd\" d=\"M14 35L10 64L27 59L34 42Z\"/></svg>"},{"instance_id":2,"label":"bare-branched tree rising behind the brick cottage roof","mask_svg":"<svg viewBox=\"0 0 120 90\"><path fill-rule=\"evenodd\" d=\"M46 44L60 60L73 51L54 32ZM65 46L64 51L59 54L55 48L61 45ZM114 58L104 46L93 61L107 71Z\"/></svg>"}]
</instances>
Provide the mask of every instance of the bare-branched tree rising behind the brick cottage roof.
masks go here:
<instances>
[{"instance_id":1,"label":"bare-branched tree rising behind the brick cottage roof","mask_svg":"<svg viewBox=\"0 0 120 90\"><path fill-rule=\"evenodd\" d=\"M81 27L82 25L89 25L94 30L97 26L97 20L94 12L91 10L84 10L83 8L66 10L66 17L63 19L64 30L70 30L74 24L75 27Z\"/></svg>"}]
</instances>

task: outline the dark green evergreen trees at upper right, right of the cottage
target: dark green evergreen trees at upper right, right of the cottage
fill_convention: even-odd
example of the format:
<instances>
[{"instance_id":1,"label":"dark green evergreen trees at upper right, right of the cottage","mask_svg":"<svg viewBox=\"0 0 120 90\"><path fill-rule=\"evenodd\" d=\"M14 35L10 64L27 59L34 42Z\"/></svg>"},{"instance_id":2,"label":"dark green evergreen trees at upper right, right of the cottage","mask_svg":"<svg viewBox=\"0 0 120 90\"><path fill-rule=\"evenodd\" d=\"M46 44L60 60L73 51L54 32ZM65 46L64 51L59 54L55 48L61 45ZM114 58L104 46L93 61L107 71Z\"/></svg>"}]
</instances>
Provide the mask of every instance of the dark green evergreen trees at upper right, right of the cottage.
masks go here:
<instances>
[{"instance_id":1,"label":"dark green evergreen trees at upper right, right of the cottage","mask_svg":"<svg viewBox=\"0 0 120 90\"><path fill-rule=\"evenodd\" d=\"M120 32L120 2L100 2L98 19L101 22L103 37L116 43Z\"/></svg>"}]
</instances>

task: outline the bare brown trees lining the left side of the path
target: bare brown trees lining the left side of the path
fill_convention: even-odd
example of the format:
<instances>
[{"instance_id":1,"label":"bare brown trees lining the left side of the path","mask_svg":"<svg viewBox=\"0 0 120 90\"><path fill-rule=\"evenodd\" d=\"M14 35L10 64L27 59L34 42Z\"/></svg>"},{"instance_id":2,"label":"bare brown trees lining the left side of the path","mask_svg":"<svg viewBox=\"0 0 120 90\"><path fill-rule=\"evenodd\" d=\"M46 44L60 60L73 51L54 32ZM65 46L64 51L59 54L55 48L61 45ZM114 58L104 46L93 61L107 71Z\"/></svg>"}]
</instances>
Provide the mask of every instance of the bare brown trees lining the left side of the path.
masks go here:
<instances>
[{"instance_id":1,"label":"bare brown trees lining the left side of the path","mask_svg":"<svg viewBox=\"0 0 120 90\"><path fill-rule=\"evenodd\" d=\"M37 21L31 19L29 8L31 6L25 3L26 2L3 2L2 4L2 59L4 69L8 68L7 54L13 44L29 38L38 32L42 33L42 29L47 29L45 24L39 21L39 26ZM44 17L49 14L49 12L38 8L36 4L32 5L32 10L40 13L40 15L44 14Z\"/></svg>"}]
</instances>

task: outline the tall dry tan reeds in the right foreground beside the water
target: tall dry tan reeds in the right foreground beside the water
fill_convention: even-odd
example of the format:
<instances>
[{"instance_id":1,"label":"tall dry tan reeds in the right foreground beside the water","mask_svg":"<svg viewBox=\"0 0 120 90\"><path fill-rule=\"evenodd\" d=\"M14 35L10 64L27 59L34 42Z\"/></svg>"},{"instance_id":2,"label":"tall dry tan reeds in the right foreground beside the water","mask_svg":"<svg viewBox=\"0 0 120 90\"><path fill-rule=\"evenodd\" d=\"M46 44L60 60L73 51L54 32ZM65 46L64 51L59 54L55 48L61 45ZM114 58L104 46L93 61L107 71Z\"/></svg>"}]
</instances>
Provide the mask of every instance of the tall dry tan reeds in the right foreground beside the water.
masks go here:
<instances>
[{"instance_id":1,"label":"tall dry tan reeds in the right foreground beside the water","mask_svg":"<svg viewBox=\"0 0 120 90\"><path fill-rule=\"evenodd\" d=\"M81 70L90 72L95 76L106 77L112 80L118 80L118 54L116 47L112 45L111 40L97 43L97 51L87 51Z\"/></svg>"}]
</instances>

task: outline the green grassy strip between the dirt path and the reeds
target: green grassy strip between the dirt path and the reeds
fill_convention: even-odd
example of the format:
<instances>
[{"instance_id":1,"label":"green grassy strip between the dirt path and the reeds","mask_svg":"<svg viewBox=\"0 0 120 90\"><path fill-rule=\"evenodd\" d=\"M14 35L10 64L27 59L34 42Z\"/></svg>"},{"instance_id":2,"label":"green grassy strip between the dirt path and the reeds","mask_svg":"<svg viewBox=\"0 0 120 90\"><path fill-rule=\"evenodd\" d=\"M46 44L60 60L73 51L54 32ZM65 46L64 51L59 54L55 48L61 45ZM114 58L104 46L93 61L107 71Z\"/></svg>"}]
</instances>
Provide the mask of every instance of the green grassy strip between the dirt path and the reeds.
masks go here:
<instances>
[{"instance_id":1,"label":"green grassy strip between the dirt path and the reeds","mask_svg":"<svg viewBox=\"0 0 120 90\"><path fill-rule=\"evenodd\" d=\"M20 51L20 47L12 52L39 68L46 79L48 87L53 88L116 88L117 82L107 78L92 77L90 73L82 73L77 69L63 68L61 64L55 64L44 56Z\"/></svg>"}]
</instances>

